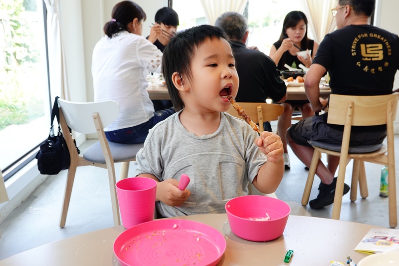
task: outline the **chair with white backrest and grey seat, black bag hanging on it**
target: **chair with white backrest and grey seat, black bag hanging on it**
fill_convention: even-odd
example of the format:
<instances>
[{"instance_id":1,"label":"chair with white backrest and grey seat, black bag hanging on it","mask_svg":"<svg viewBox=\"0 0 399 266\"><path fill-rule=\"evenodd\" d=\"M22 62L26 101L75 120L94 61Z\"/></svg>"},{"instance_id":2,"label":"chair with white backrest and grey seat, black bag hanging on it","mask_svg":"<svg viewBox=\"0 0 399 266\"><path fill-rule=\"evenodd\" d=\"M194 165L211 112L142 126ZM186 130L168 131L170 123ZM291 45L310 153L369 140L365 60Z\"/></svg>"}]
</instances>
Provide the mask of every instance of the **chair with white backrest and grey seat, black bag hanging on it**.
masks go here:
<instances>
[{"instance_id":1,"label":"chair with white backrest and grey seat, black bag hanging on it","mask_svg":"<svg viewBox=\"0 0 399 266\"><path fill-rule=\"evenodd\" d=\"M136 160L136 153L143 144L120 144L107 141L104 128L111 124L119 114L119 106L115 101L78 103L58 99L58 106L61 130L71 157L59 226L65 226L76 168L87 165L108 170L114 225L120 225L114 163L122 163L121 179L127 178L129 162ZM99 141L87 148L83 155L79 155L68 126L83 134L97 132Z\"/></svg>"}]
</instances>

